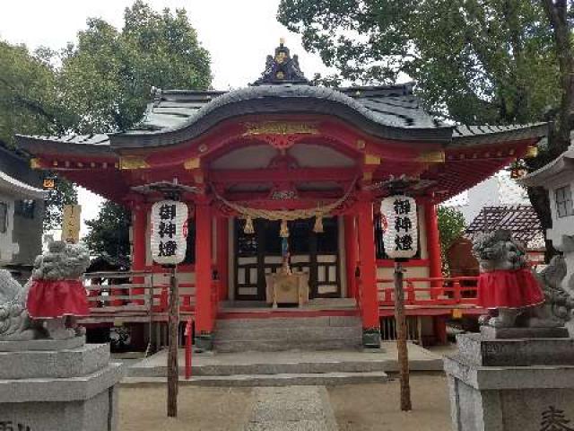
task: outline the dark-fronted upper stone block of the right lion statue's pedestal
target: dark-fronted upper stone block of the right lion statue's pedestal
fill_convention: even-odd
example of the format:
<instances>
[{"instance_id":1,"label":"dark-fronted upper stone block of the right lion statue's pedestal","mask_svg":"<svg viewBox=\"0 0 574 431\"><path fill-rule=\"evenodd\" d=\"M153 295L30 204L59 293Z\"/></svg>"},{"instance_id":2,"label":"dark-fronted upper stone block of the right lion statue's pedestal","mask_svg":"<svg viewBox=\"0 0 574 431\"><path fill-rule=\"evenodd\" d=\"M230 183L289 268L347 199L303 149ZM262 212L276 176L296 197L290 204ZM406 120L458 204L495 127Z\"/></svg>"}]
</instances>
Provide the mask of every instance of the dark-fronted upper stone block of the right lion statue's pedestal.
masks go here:
<instances>
[{"instance_id":1,"label":"dark-fronted upper stone block of the right lion statue's pedestal","mask_svg":"<svg viewBox=\"0 0 574 431\"><path fill-rule=\"evenodd\" d=\"M481 333L460 335L457 345L475 365L574 365L574 339L492 339Z\"/></svg>"}]
</instances>

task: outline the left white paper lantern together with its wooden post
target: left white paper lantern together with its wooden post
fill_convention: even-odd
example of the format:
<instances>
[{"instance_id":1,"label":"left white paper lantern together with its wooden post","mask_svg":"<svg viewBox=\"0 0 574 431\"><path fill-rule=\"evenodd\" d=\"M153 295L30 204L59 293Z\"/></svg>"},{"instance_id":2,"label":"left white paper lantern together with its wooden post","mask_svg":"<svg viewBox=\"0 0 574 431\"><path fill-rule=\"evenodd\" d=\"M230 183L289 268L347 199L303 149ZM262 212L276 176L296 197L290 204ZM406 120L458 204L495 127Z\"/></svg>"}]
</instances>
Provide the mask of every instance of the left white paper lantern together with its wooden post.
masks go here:
<instances>
[{"instance_id":1,"label":"left white paper lantern together with its wooden post","mask_svg":"<svg viewBox=\"0 0 574 431\"><path fill-rule=\"evenodd\" d=\"M186 257L187 249L187 205L176 200L162 200L152 206L152 258L164 268L170 268L170 310L168 332L168 416L178 416L178 328L179 289L178 263Z\"/></svg>"}]
</instances>

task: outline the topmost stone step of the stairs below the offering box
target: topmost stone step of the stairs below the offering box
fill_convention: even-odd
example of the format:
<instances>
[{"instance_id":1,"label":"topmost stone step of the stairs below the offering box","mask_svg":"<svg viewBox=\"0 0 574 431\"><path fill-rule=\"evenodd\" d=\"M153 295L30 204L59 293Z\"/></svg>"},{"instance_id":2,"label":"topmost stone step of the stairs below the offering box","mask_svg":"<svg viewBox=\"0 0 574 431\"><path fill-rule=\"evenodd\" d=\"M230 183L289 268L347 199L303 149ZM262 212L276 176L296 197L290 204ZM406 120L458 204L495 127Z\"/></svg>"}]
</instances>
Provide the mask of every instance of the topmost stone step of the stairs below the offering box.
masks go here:
<instances>
[{"instance_id":1,"label":"topmost stone step of the stairs below the offering box","mask_svg":"<svg viewBox=\"0 0 574 431\"><path fill-rule=\"evenodd\" d=\"M320 316L320 317L273 317L260 319L219 319L216 330L239 328L300 328L300 327L361 327L361 318L356 316Z\"/></svg>"}]
</instances>

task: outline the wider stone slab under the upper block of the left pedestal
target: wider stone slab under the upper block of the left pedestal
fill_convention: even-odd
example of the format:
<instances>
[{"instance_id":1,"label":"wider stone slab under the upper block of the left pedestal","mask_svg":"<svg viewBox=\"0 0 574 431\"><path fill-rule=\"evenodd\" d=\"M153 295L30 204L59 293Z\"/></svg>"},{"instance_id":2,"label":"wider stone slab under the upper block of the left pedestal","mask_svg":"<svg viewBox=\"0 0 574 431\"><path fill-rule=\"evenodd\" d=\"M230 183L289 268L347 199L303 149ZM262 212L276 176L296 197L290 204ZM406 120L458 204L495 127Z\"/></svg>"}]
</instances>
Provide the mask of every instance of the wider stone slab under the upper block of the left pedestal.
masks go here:
<instances>
[{"instance_id":1,"label":"wider stone slab under the upper block of the left pedestal","mask_svg":"<svg viewBox=\"0 0 574 431\"><path fill-rule=\"evenodd\" d=\"M110 363L94 373L79 377L2 379L0 404L89 400L102 391L108 391L123 375L123 365Z\"/></svg>"}]
</instances>

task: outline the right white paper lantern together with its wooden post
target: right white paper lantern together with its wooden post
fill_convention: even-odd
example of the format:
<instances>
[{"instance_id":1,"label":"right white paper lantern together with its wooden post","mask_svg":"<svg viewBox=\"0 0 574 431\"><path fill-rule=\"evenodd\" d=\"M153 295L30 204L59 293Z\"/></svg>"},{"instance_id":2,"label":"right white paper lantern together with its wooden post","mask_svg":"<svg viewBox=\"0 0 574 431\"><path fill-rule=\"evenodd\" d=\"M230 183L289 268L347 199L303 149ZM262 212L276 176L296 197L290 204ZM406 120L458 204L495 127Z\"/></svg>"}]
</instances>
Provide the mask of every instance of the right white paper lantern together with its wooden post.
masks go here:
<instances>
[{"instance_id":1,"label":"right white paper lantern together with its wooden post","mask_svg":"<svg viewBox=\"0 0 574 431\"><path fill-rule=\"evenodd\" d=\"M413 409L409 383L409 353L407 347L406 317L404 316L404 281L402 262L413 258L418 248L418 219L413 198L397 194L383 199L381 216L387 228L383 233L385 252L395 259L395 326L401 383L401 410Z\"/></svg>"}]
</instances>

